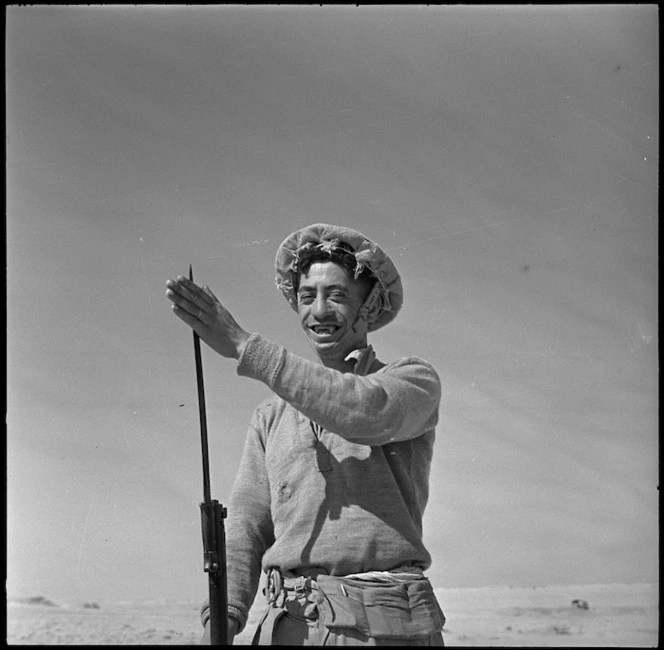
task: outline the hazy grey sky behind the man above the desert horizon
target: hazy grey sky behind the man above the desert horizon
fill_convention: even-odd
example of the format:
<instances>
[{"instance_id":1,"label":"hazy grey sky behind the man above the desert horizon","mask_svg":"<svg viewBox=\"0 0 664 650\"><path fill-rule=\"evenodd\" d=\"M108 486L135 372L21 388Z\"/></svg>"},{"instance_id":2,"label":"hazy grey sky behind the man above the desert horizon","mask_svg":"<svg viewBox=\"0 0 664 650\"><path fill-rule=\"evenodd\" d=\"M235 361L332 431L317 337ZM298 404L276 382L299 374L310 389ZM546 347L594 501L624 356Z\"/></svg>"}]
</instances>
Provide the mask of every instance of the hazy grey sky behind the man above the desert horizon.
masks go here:
<instances>
[{"instance_id":1,"label":"hazy grey sky behind the man above the desert horizon","mask_svg":"<svg viewBox=\"0 0 664 650\"><path fill-rule=\"evenodd\" d=\"M10 597L204 598L193 264L312 353L293 230L383 245L444 394L435 587L658 578L655 5L13 6ZM212 495L269 395L204 346Z\"/></svg>"}]
</instances>

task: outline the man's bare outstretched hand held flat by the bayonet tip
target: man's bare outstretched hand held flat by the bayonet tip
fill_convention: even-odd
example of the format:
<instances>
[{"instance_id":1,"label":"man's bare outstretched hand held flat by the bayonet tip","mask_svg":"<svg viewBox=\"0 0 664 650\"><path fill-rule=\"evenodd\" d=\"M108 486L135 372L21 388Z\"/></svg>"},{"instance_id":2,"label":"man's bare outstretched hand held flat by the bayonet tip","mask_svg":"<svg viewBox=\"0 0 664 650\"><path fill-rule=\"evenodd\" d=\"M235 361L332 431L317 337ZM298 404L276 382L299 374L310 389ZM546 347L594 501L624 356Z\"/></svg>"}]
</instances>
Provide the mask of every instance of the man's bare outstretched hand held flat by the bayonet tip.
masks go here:
<instances>
[{"instance_id":1,"label":"man's bare outstretched hand held flat by the bayonet tip","mask_svg":"<svg viewBox=\"0 0 664 650\"><path fill-rule=\"evenodd\" d=\"M240 358L249 332L237 324L209 287L199 287L183 275L168 280L166 286L166 297L180 320L222 357Z\"/></svg>"}]
</instances>

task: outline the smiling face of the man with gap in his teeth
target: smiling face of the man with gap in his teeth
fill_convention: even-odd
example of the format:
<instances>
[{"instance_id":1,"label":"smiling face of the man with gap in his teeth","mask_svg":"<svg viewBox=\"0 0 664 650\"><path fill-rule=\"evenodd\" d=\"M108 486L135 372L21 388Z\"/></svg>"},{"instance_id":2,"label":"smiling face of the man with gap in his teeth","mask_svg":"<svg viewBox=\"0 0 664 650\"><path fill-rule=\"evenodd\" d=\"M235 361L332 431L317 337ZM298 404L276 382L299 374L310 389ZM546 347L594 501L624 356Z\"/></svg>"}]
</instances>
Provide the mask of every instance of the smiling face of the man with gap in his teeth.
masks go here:
<instances>
[{"instance_id":1,"label":"smiling face of the man with gap in his teeth","mask_svg":"<svg viewBox=\"0 0 664 650\"><path fill-rule=\"evenodd\" d=\"M353 325L370 291L363 278L354 280L334 262L314 262L300 275L297 310L304 332L316 354L329 368L344 371L344 359L367 344L367 323Z\"/></svg>"}]
</instances>

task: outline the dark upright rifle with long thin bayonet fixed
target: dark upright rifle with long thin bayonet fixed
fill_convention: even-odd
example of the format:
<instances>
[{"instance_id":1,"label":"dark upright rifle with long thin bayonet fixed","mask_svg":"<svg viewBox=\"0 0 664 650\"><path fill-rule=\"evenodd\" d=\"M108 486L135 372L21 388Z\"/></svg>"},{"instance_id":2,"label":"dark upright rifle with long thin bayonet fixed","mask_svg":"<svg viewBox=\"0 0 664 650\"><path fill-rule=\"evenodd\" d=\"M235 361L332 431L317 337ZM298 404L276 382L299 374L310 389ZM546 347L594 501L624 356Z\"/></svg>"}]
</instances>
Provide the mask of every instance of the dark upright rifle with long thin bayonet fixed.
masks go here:
<instances>
[{"instance_id":1,"label":"dark upright rifle with long thin bayonet fixed","mask_svg":"<svg viewBox=\"0 0 664 650\"><path fill-rule=\"evenodd\" d=\"M189 265L189 279L194 274ZM201 524L203 529L203 571L208 574L210 588L210 645L228 645L228 588L226 584L226 508L210 497L210 463L207 443L207 417L205 415L205 389L200 337L194 332L194 357L198 383L198 413L201 421L203 449L203 503Z\"/></svg>"}]
</instances>

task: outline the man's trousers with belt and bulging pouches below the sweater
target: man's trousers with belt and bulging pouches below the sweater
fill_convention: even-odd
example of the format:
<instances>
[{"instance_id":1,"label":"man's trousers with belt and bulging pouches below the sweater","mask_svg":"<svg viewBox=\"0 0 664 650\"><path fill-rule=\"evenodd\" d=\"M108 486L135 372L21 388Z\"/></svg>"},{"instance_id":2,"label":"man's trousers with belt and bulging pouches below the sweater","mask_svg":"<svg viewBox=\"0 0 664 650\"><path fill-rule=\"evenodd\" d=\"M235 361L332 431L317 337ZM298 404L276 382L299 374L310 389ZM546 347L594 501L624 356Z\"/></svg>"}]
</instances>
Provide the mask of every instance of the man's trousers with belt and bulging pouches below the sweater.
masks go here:
<instances>
[{"instance_id":1,"label":"man's trousers with belt and bulging pouches below the sweater","mask_svg":"<svg viewBox=\"0 0 664 650\"><path fill-rule=\"evenodd\" d=\"M273 570L252 645L444 646L445 617L429 581L386 584Z\"/></svg>"}]
</instances>

